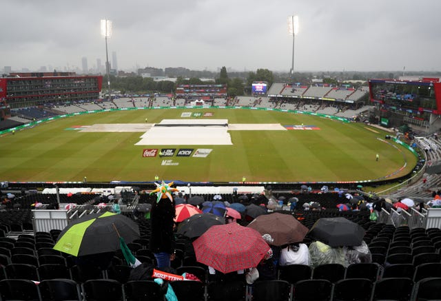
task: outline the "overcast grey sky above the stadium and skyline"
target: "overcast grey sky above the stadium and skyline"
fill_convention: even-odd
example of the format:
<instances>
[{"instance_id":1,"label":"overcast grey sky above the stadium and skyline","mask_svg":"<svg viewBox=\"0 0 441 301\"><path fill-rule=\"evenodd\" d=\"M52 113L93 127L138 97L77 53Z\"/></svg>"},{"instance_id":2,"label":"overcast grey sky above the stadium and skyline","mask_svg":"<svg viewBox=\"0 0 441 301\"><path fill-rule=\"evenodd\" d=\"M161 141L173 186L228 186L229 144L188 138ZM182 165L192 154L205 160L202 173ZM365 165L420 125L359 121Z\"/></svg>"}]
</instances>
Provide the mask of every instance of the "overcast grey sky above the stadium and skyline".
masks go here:
<instances>
[{"instance_id":1,"label":"overcast grey sky above the stadium and skyline","mask_svg":"<svg viewBox=\"0 0 441 301\"><path fill-rule=\"evenodd\" d=\"M2 0L0 70L95 68L100 19L119 70L441 71L440 0Z\"/></svg>"}]
</instances>

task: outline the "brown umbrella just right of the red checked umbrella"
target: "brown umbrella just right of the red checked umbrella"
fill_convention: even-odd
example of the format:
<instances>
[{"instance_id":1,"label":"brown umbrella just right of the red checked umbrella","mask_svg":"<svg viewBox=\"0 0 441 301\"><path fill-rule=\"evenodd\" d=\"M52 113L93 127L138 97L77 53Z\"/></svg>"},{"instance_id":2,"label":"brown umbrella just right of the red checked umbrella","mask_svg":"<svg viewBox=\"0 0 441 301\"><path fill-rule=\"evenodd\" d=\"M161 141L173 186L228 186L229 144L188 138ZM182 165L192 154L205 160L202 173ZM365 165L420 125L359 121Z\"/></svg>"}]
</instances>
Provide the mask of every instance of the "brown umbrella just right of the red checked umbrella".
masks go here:
<instances>
[{"instance_id":1,"label":"brown umbrella just right of the red checked umbrella","mask_svg":"<svg viewBox=\"0 0 441 301\"><path fill-rule=\"evenodd\" d=\"M301 242L308 233L308 228L291 214L272 213L258 216L247 227L256 229L262 235L269 234L273 238L270 245L275 246Z\"/></svg>"}]
</instances>

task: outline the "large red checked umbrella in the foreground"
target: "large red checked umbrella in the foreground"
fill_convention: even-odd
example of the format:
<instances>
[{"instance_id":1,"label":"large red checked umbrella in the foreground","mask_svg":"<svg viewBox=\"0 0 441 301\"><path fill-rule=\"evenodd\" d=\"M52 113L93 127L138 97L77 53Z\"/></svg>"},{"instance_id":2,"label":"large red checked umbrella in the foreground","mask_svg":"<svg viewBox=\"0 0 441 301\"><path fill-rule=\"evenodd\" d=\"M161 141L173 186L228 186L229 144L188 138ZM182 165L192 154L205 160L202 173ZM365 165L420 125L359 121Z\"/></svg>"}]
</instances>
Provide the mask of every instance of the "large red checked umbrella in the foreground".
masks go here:
<instances>
[{"instance_id":1,"label":"large red checked umbrella in the foreground","mask_svg":"<svg viewBox=\"0 0 441 301\"><path fill-rule=\"evenodd\" d=\"M193 247L198 262L222 273L256 267L270 249L258 231L237 222L209 228Z\"/></svg>"}]
</instances>

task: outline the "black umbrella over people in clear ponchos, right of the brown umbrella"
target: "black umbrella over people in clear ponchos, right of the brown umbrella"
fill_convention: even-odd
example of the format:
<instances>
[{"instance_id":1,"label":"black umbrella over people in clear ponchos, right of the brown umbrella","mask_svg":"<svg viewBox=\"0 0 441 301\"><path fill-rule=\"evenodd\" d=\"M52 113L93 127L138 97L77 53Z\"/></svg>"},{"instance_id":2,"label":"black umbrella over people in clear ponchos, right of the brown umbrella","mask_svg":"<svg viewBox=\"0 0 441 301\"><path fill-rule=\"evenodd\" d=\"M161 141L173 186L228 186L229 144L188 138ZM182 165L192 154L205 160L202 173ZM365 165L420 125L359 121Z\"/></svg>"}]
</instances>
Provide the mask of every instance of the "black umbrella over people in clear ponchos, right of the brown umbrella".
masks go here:
<instances>
[{"instance_id":1,"label":"black umbrella over people in clear ponchos, right of the brown umbrella","mask_svg":"<svg viewBox=\"0 0 441 301\"><path fill-rule=\"evenodd\" d=\"M359 246L365 229L346 218L319 218L308 236L331 247Z\"/></svg>"}]
</instances>

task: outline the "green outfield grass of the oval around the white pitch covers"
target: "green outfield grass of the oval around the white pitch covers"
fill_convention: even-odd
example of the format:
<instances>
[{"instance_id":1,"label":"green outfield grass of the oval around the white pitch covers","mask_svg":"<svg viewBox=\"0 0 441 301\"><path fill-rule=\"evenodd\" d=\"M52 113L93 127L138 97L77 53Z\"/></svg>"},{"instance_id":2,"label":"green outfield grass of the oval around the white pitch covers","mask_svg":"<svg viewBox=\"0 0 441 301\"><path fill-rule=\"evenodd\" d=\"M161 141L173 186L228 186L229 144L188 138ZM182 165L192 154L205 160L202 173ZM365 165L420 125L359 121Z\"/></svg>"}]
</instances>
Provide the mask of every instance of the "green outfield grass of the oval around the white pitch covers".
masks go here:
<instances>
[{"instance_id":1,"label":"green outfield grass of the oval around the white pitch covers","mask_svg":"<svg viewBox=\"0 0 441 301\"><path fill-rule=\"evenodd\" d=\"M229 123L315 125L319 130L230 131L234 145L134 145L140 132L79 132L78 125L159 123L183 112L212 112ZM233 109L132 110L83 114L43 123L0 137L0 180L81 181L164 180L239 182L336 182L397 178L408 174L416 157L377 138L380 129L287 112ZM166 140L167 137L164 137ZM207 158L143 158L145 148L212 148ZM376 154L380 160L376 162ZM163 166L162 160L175 166ZM404 168L402 168L405 165ZM401 170L400 170L401 169Z\"/></svg>"}]
</instances>

